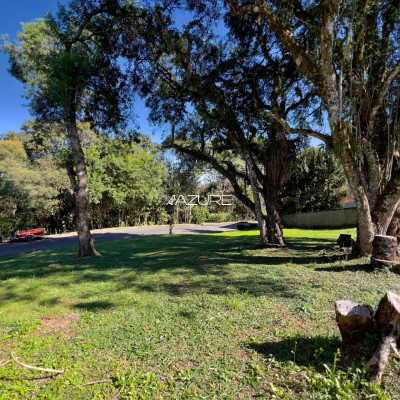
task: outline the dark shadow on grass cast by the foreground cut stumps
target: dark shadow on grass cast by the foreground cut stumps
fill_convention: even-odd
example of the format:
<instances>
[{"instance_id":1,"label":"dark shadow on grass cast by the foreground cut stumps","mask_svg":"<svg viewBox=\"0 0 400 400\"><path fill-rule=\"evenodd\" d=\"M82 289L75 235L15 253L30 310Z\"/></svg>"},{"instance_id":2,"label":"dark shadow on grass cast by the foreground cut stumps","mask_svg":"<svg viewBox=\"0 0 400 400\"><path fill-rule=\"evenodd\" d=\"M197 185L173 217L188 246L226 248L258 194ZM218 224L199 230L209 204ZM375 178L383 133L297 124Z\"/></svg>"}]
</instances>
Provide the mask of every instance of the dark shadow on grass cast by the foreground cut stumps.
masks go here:
<instances>
[{"instance_id":1,"label":"dark shadow on grass cast by the foreground cut stumps","mask_svg":"<svg viewBox=\"0 0 400 400\"><path fill-rule=\"evenodd\" d=\"M336 338L325 336L302 337L293 336L278 342L249 343L248 347L257 353L276 361L293 361L297 365L313 367L324 371L324 364L332 363L342 342Z\"/></svg>"}]
</instances>

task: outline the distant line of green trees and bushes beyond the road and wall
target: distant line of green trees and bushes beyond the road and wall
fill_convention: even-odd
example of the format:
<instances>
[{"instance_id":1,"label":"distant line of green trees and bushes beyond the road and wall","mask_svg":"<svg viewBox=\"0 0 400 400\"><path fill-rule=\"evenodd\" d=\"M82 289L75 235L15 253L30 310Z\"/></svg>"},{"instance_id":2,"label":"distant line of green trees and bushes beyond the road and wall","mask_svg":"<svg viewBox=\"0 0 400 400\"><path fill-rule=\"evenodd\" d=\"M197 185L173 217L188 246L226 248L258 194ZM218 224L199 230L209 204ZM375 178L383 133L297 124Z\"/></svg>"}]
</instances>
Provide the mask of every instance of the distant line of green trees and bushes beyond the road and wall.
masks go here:
<instances>
[{"instance_id":1,"label":"distant line of green trees and bushes beyond the road and wall","mask_svg":"<svg viewBox=\"0 0 400 400\"><path fill-rule=\"evenodd\" d=\"M229 207L183 202L168 207L173 195L196 194L204 202L208 194L230 195L233 189L203 164L171 158L149 136L110 137L94 134L85 124L78 127L88 171L91 228L167 224L171 217L176 223L253 218L237 201ZM74 230L73 160L63 127L29 120L23 128L0 141L0 231L11 236L35 226L49 233ZM340 207L343 173L331 156L310 148L297 160L283 187L282 212ZM243 191L250 189L244 186Z\"/></svg>"}]
</instances>

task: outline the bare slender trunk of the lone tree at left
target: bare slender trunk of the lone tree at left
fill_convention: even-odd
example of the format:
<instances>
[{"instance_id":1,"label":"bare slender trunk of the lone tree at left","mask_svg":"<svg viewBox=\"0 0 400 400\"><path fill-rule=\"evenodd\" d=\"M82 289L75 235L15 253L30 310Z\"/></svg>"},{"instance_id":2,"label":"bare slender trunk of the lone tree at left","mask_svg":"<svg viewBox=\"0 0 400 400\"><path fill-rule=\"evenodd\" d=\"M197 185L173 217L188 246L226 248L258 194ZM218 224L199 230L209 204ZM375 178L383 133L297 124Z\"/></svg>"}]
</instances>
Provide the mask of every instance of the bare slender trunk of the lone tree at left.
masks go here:
<instances>
[{"instance_id":1,"label":"bare slender trunk of the lone tree at left","mask_svg":"<svg viewBox=\"0 0 400 400\"><path fill-rule=\"evenodd\" d=\"M76 112L74 104L70 105L69 115L66 119L66 130L74 158L77 178L77 188L75 191L75 218L76 231L78 233L79 241L78 257L99 255L94 248L94 242L88 223L88 176L86 171L85 157L76 126Z\"/></svg>"}]
</instances>

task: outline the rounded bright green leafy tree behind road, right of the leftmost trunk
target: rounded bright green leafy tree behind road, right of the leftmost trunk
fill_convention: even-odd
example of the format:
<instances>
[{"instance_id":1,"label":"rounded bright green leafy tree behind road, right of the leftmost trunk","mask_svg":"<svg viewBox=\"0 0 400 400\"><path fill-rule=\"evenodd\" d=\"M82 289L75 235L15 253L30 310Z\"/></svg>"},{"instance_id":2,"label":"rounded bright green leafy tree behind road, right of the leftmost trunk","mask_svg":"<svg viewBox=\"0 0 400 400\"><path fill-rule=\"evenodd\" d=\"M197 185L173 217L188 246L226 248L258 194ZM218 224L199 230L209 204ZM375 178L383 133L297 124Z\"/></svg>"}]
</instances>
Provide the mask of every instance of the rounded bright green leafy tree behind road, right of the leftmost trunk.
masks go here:
<instances>
[{"instance_id":1,"label":"rounded bright green leafy tree behind road, right of the leftmost trunk","mask_svg":"<svg viewBox=\"0 0 400 400\"><path fill-rule=\"evenodd\" d=\"M152 205L160 201L166 171L151 150L148 139L143 146L107 135L94 139L85 158L89 200L97 214L117 213L119 226L128 220L139 224Z\"/></svg>"}]
</instances>

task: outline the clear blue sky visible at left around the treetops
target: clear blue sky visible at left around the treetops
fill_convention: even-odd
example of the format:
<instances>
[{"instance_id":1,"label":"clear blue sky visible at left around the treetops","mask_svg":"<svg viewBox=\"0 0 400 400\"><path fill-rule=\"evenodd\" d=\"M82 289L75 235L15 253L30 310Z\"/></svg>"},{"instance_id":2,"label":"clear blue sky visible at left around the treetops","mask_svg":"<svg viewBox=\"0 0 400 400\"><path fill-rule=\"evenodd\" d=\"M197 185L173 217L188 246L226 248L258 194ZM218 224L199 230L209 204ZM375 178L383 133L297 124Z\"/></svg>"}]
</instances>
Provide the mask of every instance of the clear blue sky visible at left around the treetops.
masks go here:
<instances>
[{"instance_id":1,"label":"clear blue sky visible at left around the treetops","mask_svg":"<svg viewBox=\"0 0 400 400\"><path fill-rule=\"evenodd\" d=\"M42 18L46 12L57 10L57 0L0 0L0 35L8 34L16 39L21 30L21 22ZM0 53L0 135L9 131L18 132L26 119L31 118L22 98L23 85L8 72L8 58ZM149 126L148 111L141 101L136 102L135 114L142 133L149 134L152 140L162 140L161 129Z\"/></svg>"}]
</instances>

